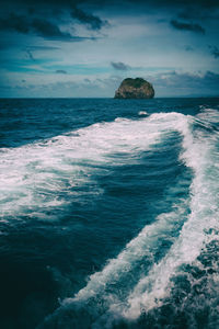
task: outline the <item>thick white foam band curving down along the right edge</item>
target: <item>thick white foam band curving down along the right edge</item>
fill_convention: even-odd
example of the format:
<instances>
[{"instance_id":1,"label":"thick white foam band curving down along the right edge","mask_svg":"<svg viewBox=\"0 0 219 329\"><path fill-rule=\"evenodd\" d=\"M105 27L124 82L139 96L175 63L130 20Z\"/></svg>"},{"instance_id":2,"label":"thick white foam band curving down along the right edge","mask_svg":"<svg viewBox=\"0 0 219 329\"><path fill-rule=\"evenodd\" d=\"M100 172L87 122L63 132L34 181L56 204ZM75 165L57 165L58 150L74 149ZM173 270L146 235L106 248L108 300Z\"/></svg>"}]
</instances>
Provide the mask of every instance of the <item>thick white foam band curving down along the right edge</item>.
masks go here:
<instances>
[{"instance_id":1,"label":"thick white foam band curving down along the right edge","mask_svg":"<svg viewBox=\"0 0 219 329\"><path fill-rule=\"evenodd\" d=\"M208 114L212 114L214 117ZM208 127L211 120L219 120L217 111L206 111L198 120L207 120L204 124ZM218 133L211 135L197 131L195 137L189 129L184 134L184 152L181 158L187 167L194 171L194 180L191 186L191 215L184 224L180 238L170 249L162 261L155 264L149 274L142 277L134 292L128 297L128 307L123 316L137 319L142 309L149 309L162 304L162 298L170 292L170 279L183 263L192 263L199 256L201 248L211 238L207 231L211 228L219 229L218 215L218 178L219 158L216 146L219 139ZM215 238L215 236L214 236Z\"/></svg>"}]
</instances>

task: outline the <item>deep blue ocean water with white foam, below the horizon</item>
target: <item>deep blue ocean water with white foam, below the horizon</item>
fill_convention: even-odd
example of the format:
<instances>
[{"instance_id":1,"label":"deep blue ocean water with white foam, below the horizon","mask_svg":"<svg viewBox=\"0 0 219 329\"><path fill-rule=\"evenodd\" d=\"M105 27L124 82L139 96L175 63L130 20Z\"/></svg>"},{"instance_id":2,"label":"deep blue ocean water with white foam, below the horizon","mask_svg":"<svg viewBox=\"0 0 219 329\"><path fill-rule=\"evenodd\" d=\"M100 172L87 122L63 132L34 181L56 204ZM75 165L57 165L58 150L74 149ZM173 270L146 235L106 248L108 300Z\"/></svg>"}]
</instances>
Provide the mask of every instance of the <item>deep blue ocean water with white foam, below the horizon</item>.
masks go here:
<instances>
[{"instance_id":1,"label":"deep blue ocean water with white foam, below the horizon","mask_svg":"<svg viewBox=\"0 0 219 329\"><path fill-rule=\"evenodd\" d=\"M219 99L0 100L0 328L219 328Z\"/></svg>"}]
</instances>

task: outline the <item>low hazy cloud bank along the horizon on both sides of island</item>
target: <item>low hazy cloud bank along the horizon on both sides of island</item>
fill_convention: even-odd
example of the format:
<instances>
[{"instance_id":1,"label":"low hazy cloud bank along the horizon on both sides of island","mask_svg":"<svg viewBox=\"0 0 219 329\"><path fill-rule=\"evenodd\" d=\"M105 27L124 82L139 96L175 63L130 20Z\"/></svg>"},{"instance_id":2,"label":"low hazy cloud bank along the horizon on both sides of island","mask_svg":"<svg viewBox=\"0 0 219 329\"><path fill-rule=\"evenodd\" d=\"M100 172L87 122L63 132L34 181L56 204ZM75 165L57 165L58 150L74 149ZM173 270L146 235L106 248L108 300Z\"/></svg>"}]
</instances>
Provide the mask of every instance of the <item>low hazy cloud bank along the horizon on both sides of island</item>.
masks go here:
<instances>
[{"instance_id":1,"label":"low hazy cloud bank along the horizon on both sides of island","mask_svg":"<svg viewBox=\"0 0 219 329\"><path fill-rule=\"evenodd\" d=\"M57 77L58 78L58 77ZM147 75L145 78L150 81L157 97L217 97L219 95L219 73L207 71L205 73L166 71L157 75ZM111 76L108 78L95 78L71 81L57 81L41 83L26 83L14 81L0 86L1 97L110 97L112 98L118 88L123 77ZM2 81L3 82L3 81ZM2 89L2 90L1 90ZM7 91L8 90L8 91ZM9 91L11 90L11 91Z\"/></svg>"}]
</instances>

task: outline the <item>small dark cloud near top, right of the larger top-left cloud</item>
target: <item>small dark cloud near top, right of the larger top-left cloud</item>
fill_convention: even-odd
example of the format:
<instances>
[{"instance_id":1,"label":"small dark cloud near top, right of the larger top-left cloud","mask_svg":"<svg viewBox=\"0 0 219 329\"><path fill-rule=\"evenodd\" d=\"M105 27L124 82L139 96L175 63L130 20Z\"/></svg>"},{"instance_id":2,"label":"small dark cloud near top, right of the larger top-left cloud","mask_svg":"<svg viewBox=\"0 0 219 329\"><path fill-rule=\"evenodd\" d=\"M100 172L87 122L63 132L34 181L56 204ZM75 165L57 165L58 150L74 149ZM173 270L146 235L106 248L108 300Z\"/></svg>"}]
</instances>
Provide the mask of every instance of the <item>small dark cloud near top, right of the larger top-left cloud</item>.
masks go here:
<instances>
[{"instance_id":1,"label":"small dark cloud near top, right of the larger top-left cloud","mask_svg":"<svg viewBox=\"0 0 219 329\"><path fill-rule=\"evenodd\" d=\"M108 25L107 21L103 21L99 16L87 13L77 5L72 7L71 16L77 19L80 23L90 26L92 30L101 30L104 25Z\"/></svg>"}]
</instances>

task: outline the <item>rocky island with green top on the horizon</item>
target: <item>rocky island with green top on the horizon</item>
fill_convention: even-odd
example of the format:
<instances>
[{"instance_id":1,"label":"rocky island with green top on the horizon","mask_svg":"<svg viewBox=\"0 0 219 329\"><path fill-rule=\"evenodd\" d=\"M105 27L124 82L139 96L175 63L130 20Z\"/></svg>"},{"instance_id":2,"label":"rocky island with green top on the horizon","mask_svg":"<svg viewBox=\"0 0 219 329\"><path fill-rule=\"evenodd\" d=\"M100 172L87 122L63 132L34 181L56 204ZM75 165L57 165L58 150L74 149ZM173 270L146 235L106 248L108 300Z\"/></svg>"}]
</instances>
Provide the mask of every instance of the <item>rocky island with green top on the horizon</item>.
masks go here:
<instances>
[{"instance_id":1,"label":"rocky island with green top on the horizon","mask_svg":"<svg viewBox=\"0 0 219 329\"><path fill-rule=\"evenodd\" d=\"M116 90L115 99L152 99L154 89L151 83L142 78L127 78Z\"/></svg>"}]
</instances>

